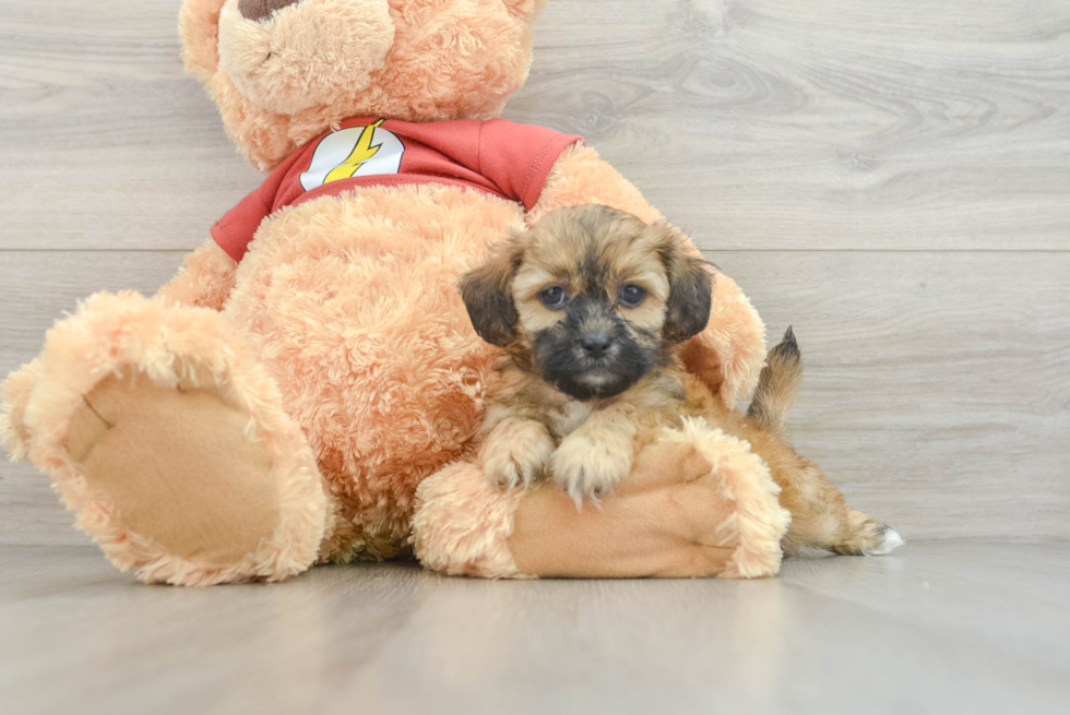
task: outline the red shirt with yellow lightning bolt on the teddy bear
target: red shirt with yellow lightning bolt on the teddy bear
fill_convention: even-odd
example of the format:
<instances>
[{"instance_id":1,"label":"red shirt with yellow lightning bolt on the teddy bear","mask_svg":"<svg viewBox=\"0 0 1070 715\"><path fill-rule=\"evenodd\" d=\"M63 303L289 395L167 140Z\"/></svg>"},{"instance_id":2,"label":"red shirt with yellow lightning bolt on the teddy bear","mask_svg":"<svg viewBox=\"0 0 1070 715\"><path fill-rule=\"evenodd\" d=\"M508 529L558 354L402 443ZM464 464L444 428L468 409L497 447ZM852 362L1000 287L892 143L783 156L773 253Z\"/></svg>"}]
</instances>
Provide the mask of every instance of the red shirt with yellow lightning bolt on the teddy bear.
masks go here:
<instances>
[{"instance_id":1,"label":"red shirt with yellow lightning bolt on the teddy bear","mask_svg":"<svg viewBox=\"0 0 1070 715\"><path fill-rule=\"evenodd\" d=\"M445 183L516 201L531 211L561 152L580 141L504 119L426 124L347 119L278 165L212 227L212 238L240 261L271 214L358 187Z\"/></svg>"}]
</instances>

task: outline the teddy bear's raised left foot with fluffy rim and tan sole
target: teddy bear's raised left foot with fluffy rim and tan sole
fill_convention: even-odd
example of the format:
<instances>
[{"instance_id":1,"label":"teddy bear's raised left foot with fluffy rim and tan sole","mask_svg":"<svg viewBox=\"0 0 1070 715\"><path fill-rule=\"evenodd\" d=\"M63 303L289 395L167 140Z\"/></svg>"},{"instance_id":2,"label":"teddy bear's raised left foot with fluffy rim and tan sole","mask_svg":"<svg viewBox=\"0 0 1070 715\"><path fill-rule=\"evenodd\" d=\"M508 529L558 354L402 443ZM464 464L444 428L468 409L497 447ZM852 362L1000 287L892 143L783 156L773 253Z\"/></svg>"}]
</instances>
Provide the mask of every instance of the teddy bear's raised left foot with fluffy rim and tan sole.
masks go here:
<instances>
[{"instance_id":1,"label":"teddy bear's raised left foot with fluffy rim and tan sole","mask_svg":"<svg viewBox=\"0 0 1070 715\"><path fill-rule=\"evenodd\" d=\"M316 560L316 460L213 310L93 296L49 332L25 424L78 525L142 581L277 581Z\"/></svg>"}]
</instances>

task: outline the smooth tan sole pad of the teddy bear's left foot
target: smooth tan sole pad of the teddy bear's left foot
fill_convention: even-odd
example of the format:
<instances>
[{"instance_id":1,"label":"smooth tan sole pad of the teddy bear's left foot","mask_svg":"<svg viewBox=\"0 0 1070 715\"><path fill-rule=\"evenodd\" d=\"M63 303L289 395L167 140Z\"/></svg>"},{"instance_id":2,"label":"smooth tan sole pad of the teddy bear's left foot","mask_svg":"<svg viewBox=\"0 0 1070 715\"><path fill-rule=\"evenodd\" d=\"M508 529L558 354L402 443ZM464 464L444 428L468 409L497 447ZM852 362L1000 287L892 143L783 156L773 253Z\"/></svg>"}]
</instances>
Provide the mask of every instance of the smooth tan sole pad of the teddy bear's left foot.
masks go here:
<instances>
[{"instance_id":1,"label":"smooth tan sole pad of the teddy bear's left foot","mask_svg":"<svg viewBox=\"0 0 1070 715\"><path fill-rule=\"evenodd\" d=\"M278 491L247 415L214 385L108 377L71 419L71 458L122 524L182 559L239 561L278 526Z\"/></svg>"}]
</instances>

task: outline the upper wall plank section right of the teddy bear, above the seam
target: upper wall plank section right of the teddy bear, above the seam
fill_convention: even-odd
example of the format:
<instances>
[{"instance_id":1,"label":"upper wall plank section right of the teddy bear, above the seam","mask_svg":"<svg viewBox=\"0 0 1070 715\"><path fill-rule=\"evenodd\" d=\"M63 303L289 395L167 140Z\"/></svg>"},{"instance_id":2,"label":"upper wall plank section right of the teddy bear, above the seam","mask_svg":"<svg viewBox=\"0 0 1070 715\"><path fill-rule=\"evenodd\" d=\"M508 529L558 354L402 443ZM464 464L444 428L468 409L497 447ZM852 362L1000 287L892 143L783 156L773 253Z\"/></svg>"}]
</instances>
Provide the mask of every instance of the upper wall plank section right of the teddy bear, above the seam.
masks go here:
<instances>
[{"instance_id":1,"label":"upper wall plank section right of the teddy bear, above the seam","mask_svg":"<svg viewBox=\"0 0 1070 715\"><path fill-rule=\"evenodd\" d=\"M508 116L584 134L722 249L1070 248L1066 2L549 2L539 22Z\"/></svg>"}]
</instances>

